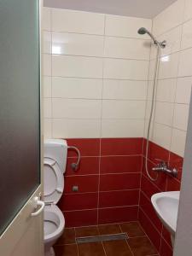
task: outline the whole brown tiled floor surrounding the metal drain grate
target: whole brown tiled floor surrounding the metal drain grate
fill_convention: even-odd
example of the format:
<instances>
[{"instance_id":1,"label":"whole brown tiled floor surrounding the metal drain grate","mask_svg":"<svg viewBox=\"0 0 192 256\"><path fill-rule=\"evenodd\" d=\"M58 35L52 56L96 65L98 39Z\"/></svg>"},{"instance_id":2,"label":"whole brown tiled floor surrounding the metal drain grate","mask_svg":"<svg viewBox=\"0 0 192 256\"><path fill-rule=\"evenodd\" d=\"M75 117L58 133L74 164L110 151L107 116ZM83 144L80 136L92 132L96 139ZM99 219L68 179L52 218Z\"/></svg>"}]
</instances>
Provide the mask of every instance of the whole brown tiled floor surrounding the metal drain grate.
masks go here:
<instances>
[{"instance_id":1,"label":"whole brown tiled floor surrounding the metal drain grate","mask_svg":"<svg viewBox=\"0 0 192 256\"><path fill-rule=\"evenodd\" d=\"M126 232L128 240L77 244L75 237L110 235ZM158 256L140 224L107 224L65 229L55 244L56 256Z\"/></svg>"}]
</instances>

